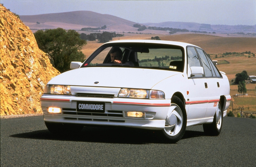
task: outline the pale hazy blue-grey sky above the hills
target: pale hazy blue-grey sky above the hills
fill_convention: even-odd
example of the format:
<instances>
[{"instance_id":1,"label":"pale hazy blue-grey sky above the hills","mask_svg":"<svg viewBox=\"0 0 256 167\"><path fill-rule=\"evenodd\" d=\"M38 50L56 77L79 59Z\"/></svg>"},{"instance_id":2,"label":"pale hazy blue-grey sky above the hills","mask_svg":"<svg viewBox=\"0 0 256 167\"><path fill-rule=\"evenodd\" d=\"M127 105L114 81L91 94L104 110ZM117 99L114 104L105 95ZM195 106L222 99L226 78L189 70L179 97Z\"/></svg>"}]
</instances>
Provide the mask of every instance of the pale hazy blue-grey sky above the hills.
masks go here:
<instances>
[{"instance_id":1,"label":"pale hazy blue-grey sky above the hills","mask_svg":"<svg viewBox=\"0 0 256 167\"><path fill-rule=\"evenodd\" d=\"M19 15L94 11L137 23L256 25L256 0L0 0L0 3Z\"/></svg>"}]
</instances>

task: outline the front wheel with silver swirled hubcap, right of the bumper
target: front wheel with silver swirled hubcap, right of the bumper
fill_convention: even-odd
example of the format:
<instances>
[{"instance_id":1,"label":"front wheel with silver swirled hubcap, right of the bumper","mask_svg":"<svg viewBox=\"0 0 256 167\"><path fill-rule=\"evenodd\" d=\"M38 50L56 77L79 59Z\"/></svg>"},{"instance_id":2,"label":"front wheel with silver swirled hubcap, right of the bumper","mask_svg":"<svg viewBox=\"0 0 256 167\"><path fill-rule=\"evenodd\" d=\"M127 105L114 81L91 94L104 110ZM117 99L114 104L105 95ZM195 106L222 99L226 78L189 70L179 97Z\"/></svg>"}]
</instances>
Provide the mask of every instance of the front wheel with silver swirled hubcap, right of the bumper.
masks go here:
<instances>
[{"instance_id":1,"label":"front wheel with silver swirled hubcap, right of the bumper","mask_svg":"<svg viewBox=\"0 0 256 167\"><path fill-rule=\"evenodd\" d=\"M183 102L177 96L173 96L171 102L162 132L170 143L176 143L185 133L187 112Z\"/></svg>"}]
</instances>

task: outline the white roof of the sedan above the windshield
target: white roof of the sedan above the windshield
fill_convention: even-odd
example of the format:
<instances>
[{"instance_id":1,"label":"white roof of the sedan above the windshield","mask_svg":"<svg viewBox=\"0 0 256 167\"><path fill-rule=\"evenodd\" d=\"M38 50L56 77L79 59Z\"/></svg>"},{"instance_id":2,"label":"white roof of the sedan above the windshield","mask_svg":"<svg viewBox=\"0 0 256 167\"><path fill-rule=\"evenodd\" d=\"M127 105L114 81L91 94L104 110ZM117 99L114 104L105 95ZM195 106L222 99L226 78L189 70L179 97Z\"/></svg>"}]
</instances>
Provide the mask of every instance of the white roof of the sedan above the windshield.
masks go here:
<instances>
[{"instance_id":1,"label":"white roof of the sedan above the windshield","mask_svg":"<svg viewBox=\"0 0 256 167\"><path fill-rule=\"evenodd\" d=\"M111 42L107 42L107 43L128 43L128 42L169 44L169 45L182 46L183 48L186 48L187 46L196 46L196 45L193 45L190 43L185 43L185 42L163 41L163 40L117 40L117 41L111 41ZM196 46L196 47L198 47L198 46ZM198 47L198 48L200 48L200 47Z\"/></svg>"}]
</instances>

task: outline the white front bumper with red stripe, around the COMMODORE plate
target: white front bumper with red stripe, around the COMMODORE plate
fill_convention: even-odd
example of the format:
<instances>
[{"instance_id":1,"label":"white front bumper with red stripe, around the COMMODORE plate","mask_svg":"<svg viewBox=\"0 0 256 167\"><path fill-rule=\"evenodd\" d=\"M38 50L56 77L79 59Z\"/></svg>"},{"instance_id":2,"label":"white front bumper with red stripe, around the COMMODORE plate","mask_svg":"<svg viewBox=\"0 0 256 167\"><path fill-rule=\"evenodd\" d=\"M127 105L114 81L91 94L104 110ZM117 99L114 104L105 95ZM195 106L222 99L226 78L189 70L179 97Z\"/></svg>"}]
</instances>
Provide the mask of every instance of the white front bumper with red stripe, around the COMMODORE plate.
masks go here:
<instances>
[{"instance_id":1,"label":"white front bumper with red stripe, around the COMMODORE plate","mask_svg":"<svg viewBox=\"0 0 256 167\"><path fill-rule=\"evenodd\" d=\"M41 98L45 122L83 125L113 125L143 129L164 128L170 99L92 98L68 95L46 95ZM105 102L104 113L77 112L77 101ZM47 112L47 107L61 108L60 114ZM125 111L140 111L144 118L127 118Z\"/></svg>"}]
</instances>

